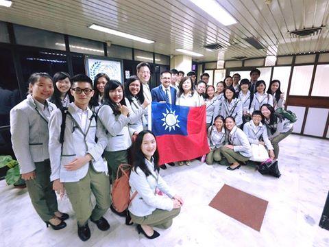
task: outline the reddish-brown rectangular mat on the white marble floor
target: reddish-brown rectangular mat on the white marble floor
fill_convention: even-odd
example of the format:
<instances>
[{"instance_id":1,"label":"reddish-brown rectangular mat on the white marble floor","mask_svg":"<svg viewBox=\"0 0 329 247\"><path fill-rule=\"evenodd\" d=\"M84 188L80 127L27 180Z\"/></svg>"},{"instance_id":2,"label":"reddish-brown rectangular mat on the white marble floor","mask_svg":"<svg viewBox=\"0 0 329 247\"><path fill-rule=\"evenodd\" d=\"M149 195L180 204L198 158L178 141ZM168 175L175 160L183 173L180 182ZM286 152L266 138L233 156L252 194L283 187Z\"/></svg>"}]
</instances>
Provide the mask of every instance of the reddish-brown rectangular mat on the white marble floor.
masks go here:
<instances>
[{"instance_id":1,"label":"reddish-brown rectangular mat on the white marble floor","mask_svg":"<svg viewBox=\"0 0 329 247\"><path fill-rule=\"evenodd\" d=\"M235 189L230 185L224 185L209 206L260 231L267 204L269 202L266 200Z\"/></svg>"}]
</instances>

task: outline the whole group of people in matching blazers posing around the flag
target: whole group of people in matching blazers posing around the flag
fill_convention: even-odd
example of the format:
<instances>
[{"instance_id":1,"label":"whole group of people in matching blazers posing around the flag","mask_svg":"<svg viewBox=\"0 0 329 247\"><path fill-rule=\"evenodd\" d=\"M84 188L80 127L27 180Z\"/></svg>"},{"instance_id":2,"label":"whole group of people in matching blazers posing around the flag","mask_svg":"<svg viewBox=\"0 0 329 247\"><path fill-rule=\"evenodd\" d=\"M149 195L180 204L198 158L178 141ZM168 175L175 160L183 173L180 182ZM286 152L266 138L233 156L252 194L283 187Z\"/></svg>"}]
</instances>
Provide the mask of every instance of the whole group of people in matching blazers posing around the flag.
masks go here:
<instances>
[{"instance_id":1,"label":"whole group of people in matching blazers posing around the flag","mask_svg":"<svg viewBox=\"0 0 329 247\"><path fill-rule=\"evenodd\" d=\"M110 80L105 73L99 73L94 82L83 74L70 78L58 72L51 78L47 73L34 73L29 78L27 99L10 111L12 148L22 178L36 212L54 230L64 228L64 220L69 218L58 211L56 193L63 196L64 191L83 241L90 238L88 220L101 231L110 228L103 217L109 207L127 216L126 224L137 224L138 233L147 238L159 236L154 226L171 226L184 201L159 175L159 167L167 167L158 163L156 138L147 130L151 101L205 105L210 144L206 162L225 157L229 169L249 159L249 143L265 144L270 157L278 158L278 142L292 131L292 124L274 111L283 99L282 95L276 97L280 92L278 81L270 86L272 90L278 83L276 91L265 93L265 82L252 80L245 89L246 81L236 86L234 75L219 82L215 91L214 86L207 86L206 73L196 82L193 71L184 76L184 72L173 69L162 71L160 86L150 90L149 64L141 62L136 70L137 75L124 84ZM245 104L248 99L249 106ZM244 132L238 128L243 124ZM117 212L110 198L110 181L114 181L122 163L132 163L130 196L136 196L137 191L128 214ZM95 207L91 193L96 198Z\"/></svg>"}]
</instances>

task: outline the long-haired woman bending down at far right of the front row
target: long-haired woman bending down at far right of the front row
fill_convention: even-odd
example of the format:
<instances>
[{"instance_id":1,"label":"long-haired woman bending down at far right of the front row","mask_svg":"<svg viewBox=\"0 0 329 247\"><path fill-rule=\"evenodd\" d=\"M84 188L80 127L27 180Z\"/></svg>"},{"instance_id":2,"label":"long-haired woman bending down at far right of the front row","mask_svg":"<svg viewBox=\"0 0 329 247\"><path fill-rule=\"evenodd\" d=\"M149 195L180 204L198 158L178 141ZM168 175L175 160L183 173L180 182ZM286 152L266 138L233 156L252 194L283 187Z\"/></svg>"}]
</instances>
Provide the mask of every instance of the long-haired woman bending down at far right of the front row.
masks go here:
<instances>
[{"instance_id":1,"label":"long-haired woman bending down at far right of the front row","mask_svg":"<svg viewBox=\"0 0 329 247\"><path fill-rule=\"evenodd\" d=\"M293 123L289 119L285 119L281 115L277 115L273 106L270 104L263 104L260 111L264 116L263 124L267 127L269 140L274 149L275 160L279 156L279 142L288 137L293 132Z\"/></svg>"}]
</instances>

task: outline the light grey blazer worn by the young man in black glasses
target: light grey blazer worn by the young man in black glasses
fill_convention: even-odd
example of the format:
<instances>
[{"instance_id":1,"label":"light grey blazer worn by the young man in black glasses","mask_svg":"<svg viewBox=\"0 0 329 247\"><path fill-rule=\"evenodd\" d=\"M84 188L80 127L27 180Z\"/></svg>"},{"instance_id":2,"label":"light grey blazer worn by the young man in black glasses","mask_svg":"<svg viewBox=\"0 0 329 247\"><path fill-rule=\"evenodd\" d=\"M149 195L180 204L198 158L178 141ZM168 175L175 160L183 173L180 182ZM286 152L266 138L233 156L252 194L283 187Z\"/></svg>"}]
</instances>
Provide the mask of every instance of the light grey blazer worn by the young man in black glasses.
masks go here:
<instances>
[{"instance_id":1,"label":"light grey blazer worn by the young man in black glasses","mask_svg":"<svg viewBox=\"0 0 329 247\"><path fill-rule=\"evenodd\" d=\"M60 178L60 182L77 182L84 178L89 165L93 165L96 172L108 172L108 166L103 161L101 154L108 143L105 128L100 121L93 117L93 112L88 108L86 130L80 127L80 117L77 110L70 103L66 113L64 143L60 143L60 125L62 113L55 110L49 120L49 156L51 163L50 180ZM95 141L97 137L97 142ZM75 171L68 171L64 165L71 163L75 158L90 154L93 159Z\"/></svg>"}]
</instances>

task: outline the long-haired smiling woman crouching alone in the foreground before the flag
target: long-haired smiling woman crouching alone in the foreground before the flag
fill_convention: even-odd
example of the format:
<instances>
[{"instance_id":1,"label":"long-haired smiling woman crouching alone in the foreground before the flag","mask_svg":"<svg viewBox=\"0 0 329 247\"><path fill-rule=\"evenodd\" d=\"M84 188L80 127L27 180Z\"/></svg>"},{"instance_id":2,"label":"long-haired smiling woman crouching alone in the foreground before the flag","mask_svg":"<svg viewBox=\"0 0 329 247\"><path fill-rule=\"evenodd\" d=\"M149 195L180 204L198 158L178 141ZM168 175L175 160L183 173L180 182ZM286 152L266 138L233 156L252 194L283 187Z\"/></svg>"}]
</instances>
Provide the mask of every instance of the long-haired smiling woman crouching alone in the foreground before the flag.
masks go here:
<instances>
[{"instance_id":1,"label":"long-haired smiling woman crouching alone in the foreground before the flag","mask_svg":"<svg viewBox=\"0 0 329 247\"><path fill-rule=\"evenodd\" d=\"M129 180L132 197L129 211L132 221L138 224L138 233L149 239L160 235L153 227L169 228L184 204L159 175L158 161L156 137L149 130L139 132L134 144L134 167ZM167 196L162 196L162 193Z\"/></svg>"}]
</instances>

